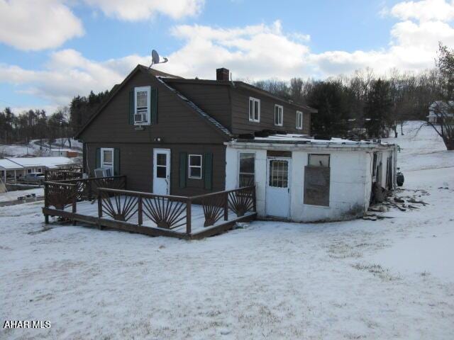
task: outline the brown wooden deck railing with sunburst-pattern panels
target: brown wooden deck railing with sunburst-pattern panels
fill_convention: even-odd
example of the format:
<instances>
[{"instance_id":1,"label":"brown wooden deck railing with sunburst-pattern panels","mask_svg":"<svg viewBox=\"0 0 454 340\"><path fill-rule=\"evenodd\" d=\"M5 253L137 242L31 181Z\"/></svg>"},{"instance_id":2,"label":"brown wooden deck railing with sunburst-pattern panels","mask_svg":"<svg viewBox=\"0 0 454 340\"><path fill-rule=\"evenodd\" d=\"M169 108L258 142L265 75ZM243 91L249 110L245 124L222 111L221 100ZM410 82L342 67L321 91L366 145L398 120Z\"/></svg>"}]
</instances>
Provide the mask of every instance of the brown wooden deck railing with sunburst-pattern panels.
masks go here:
<instances>
[{"instance_id":1,"label":"brown wooden deck railing with sunburst-pattern panels","mask_svg":"<svg viewBox=\"0 0 454 340\"><path fill-rule=\"evenodd\" d=\"M99 225L106 219L138 227L152 221L158 228L183 229L190 235L193 205L201 205L204 227L216 225L222 218L228 221L229 212L237 217L256 212L255 186L184 197L125 190L126 176L45 181L44 185L45 208L65 210L71 206L71 212L76 213L77 202L97 200ZM48 215L45 214L46 222Z\"/></svg>"}]
</instances>

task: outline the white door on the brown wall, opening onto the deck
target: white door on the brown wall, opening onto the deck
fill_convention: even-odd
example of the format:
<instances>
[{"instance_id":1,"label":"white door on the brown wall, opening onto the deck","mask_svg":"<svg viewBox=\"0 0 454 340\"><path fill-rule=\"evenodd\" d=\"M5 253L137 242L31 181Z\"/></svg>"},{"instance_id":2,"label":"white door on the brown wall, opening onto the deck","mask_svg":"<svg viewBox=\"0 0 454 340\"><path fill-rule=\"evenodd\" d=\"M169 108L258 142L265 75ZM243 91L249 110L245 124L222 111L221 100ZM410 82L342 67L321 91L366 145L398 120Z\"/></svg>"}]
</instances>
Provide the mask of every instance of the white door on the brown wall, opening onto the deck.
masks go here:
<instances>
[{"instance_id":1,"label":"white door on the brown wall, opening onto the deck","mask_svg":"<svg viewBox=\"0 0 454 340\"><path fill-rule=\"evenodd\" d=\"M170 194L170 149L153 150L153 193Z\"/></svg>"}]
</instances>

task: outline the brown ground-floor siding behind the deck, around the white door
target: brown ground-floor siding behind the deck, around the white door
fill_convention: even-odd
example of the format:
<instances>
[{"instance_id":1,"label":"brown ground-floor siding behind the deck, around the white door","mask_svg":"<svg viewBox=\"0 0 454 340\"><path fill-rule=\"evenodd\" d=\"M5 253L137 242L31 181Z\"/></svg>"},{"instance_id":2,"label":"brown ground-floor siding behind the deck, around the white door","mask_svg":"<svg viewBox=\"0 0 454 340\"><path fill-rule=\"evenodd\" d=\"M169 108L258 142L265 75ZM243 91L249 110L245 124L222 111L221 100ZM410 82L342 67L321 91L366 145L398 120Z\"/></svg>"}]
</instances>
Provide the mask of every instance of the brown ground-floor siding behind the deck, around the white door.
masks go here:
<instances>
[{"instance_id":1,"label":"brown ground-floor siding behind the deck, around the white door","mask_svg":"<svg viewBox=\"0 0 454 340\"><path fill-rule=\"evenodd\" d=\"M207 144L150 144L150 143L86 143L87 172L92 176L96 167L96 149L115 147L120 149L120 174L126 175L127 188L133 191L153 193L153 148L170 149L170 194L194 196L204 193L223 191L226 187L226 147ZM204 179L187 178L186 188L179 188L179 153L213 154L213 188L204 188ZM202 164L204 166L204 164Z\"/></svg>"}]
</instances>

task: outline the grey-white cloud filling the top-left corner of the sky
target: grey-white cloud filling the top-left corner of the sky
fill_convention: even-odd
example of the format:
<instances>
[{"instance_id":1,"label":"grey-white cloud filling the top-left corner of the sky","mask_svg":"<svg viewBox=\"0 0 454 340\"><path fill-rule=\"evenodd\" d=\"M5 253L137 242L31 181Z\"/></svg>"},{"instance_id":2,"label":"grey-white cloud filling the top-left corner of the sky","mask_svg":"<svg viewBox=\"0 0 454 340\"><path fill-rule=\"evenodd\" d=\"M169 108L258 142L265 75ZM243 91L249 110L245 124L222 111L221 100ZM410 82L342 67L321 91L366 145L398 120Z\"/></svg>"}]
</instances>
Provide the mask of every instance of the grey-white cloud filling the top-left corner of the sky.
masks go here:
<instances>
[{"instance_id":1,"label":"grey-white cloud filling the top-left corner of the sky","mask_svg":"<svg viewBox=\"0 0 454 340\"><path fill-rule=\"evenodd\" d=\"M0 0L0 42L19 50L58 47L84 34L81 21L57 0Z\"/></svg>"}]
</instances>

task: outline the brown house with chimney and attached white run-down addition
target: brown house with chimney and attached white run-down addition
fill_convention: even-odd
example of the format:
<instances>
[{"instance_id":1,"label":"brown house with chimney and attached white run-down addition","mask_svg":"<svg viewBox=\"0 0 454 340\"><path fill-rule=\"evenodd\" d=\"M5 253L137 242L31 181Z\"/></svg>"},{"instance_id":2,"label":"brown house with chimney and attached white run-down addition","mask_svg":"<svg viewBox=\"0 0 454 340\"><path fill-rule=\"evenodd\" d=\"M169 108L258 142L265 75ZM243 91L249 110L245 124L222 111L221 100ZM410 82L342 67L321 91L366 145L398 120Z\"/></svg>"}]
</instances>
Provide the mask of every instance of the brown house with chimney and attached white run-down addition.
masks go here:
<instances>
[{"instance_id":1,"label":"brown house with chimney and attached white run-down addition","mask_svg":"<svg viewBox=\"0 0 454 340\"><path fill-rule=\"evenodd\" d=\"M333 220L392 190L397 147L314 140L316 110L231 81L138 65L76 135L84 172L125 175L128 190L198 196L255 185L260 217ZM99 174L100 171L96 171Z\"/></svg>"}]
</instances>

